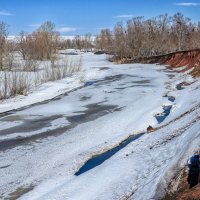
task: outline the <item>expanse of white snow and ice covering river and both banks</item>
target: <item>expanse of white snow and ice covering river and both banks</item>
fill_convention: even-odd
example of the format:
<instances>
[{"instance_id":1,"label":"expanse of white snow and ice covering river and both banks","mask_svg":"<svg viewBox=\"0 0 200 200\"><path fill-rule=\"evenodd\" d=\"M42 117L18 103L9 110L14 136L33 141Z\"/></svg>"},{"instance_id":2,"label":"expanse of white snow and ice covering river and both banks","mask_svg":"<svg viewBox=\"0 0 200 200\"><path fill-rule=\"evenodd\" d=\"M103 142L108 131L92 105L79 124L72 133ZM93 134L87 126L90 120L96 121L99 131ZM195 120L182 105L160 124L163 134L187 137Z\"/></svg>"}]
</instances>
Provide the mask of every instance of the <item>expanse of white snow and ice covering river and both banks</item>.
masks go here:
<instances>
[{"instance_id":1,"label":"expanse of white snow and ice covering river and both banks","mask_svg":"<svg viewBox=\"0 0 200 200\"><path fill-rule=\"evenodd\" d=\"M0 105L3 112L73 89L1 115L0 199L160 199L200 147L199 80L160 65L116 65L92 53L82 58L84 81L74 75ZM158 129L146 133L149 125ZM140 133L75 175L93 156Z\"/></svg>"}]
</instances>

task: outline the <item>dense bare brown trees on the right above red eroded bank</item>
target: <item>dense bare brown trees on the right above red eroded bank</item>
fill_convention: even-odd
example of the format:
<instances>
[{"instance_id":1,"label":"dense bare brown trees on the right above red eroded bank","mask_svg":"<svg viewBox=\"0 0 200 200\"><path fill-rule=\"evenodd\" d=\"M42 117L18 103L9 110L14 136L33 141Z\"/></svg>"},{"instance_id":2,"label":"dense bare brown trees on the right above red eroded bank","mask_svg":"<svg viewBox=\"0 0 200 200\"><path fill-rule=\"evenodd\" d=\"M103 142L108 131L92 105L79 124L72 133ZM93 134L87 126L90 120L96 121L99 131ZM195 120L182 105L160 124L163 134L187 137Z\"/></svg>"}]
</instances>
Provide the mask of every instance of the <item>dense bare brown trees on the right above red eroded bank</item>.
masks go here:
<instances>
[{"instance_id":1,"label":"dense bare brown trees on the right above red eroded bank","mask_svg":"<svg viewBox=\"0 0 200 200\"><path fill-rule=\"evenodd\" d=\"M113 30L102 29L96 48L119 59L149 57L200 48L200 22L194 23L181 13L152 19L135 17L119 22Z\"/></svg>"}]
</instances>

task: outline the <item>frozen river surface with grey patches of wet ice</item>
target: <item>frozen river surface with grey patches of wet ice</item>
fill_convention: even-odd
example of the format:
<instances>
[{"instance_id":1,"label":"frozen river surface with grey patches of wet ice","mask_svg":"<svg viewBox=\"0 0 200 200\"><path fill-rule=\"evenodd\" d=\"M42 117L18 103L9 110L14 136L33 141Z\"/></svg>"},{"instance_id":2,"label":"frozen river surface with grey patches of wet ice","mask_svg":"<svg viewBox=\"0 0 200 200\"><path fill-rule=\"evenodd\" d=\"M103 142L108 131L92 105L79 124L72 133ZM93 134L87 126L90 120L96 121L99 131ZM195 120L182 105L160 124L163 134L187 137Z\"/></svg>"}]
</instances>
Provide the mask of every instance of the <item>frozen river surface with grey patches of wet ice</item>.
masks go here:
<instances>
[{"instance_id":1,"label":"frozen river surface with grey patches of wet ice","mask_svg":"<svg viewBox=\"0 0 200 200\"><path fill-rule=\"evenodd\" d=\"M74 174L92 157L126 142L130 136L145 133L149 125L158 124L155 116L163 112L164 105L173 105L167 98L171 72L163 66L115 65L106 61L104 55L86 54L83 69L87 78L82 87L51 101L1 115L1 199L59 199L59 195L43 195L62 184L67 191L64 199L105 199L106 195L99 192L95 198L82 197L80 179L91 173L95 176L93 170L101 170L121 149L95 169L91 167L79 176ZM122 147L128 145L129 142ZM112 176L104 181L110 186L114 183L116 191L120 187ZM87 182L91 195L100 182ZM75 196L73 187L77 188ZM23 196L29 191L33 194Z\"/></svg>"}]
</instances>

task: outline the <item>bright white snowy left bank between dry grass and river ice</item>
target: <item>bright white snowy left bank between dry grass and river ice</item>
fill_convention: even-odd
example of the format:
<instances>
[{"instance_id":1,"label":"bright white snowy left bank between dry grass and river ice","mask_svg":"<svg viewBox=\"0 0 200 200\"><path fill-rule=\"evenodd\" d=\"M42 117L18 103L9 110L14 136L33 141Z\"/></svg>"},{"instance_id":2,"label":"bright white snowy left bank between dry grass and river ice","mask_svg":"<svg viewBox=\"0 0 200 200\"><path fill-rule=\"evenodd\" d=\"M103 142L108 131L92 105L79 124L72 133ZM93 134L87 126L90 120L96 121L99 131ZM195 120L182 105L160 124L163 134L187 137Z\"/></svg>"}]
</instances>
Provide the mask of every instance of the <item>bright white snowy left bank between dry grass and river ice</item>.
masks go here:
<instances>
[{"instance_id":1,"label":"bright white snowy left bank between dry grass and river ice","mask_svg":"<svg viewBox=\"0 0 200 200\"><path fill-rule=\"evenodd\" d=\"M66 52L66 51L64 51ZM97 77L96 69L92 70L91 65L88 66L88 59L92 53L85 53L81 72L77 72L72 76L68 76L62 80L43 83L37 88L33 88L28 95L18 95L16 97L0 101L0 113L12 111L15 109L30 106L39 102L53 99L61 94L74 90L84 85L89 78ZM80 59L80 56L68 56L73 60ZM91 64L91 63L90 63ZM44 63L42 64L44 65ZM44 66L42 66L44 67ZM39 81L39 80L38 80Z\"/></svg>"}]
</instances>

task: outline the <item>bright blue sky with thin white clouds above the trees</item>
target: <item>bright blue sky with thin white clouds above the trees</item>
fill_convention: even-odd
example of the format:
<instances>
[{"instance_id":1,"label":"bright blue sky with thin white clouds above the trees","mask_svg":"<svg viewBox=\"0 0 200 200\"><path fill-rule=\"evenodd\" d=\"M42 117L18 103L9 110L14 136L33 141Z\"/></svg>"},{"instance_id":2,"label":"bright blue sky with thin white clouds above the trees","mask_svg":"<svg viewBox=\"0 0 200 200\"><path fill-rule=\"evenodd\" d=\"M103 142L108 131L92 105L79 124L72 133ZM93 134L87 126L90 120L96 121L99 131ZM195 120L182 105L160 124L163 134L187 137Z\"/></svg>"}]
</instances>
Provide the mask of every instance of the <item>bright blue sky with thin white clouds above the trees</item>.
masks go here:
<instances>
[{"instance_id":1,"label":"bright blue sky with thin white clouds above the trees","mask_svg":"<svg viewBox=\"0 0 200 200\"><path fill-rule=\"evenodd\" d=\"M200 20L200 0L0 0L0 21L9 25L9 34L31 32L50 20L62 35L97 34L118 21L131 17L156 17L182 12Z\"/></svg>"}]
</instances>

